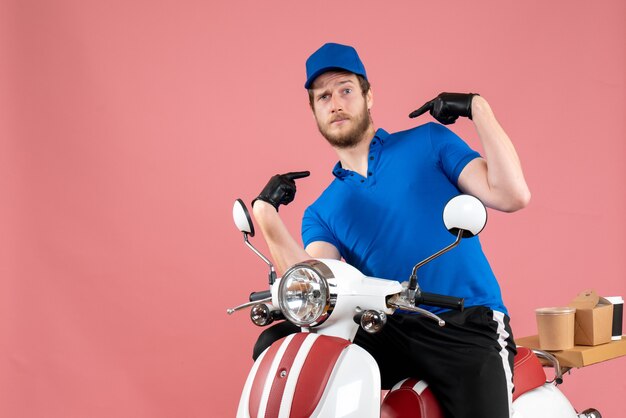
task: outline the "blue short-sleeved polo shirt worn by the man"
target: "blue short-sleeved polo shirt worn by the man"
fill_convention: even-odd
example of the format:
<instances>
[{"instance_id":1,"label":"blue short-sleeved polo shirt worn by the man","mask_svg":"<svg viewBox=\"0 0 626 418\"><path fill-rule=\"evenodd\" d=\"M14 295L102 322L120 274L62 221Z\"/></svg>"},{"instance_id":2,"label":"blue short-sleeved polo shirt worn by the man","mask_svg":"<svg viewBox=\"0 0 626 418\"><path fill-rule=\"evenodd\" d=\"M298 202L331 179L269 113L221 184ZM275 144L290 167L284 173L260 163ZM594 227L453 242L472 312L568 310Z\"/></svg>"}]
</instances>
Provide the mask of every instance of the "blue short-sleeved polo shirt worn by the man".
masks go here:
<instances>
[{"instance_id":1,"label":"blue short-sleeved polo shirt worn by the man","mask_svg":"<svg viewBox=\"0 0 626 418\"><path fill-rule=\"evenodd\" d=\"M436 123L394 134L378 129L370 144L367 177L337 163L335 179L306 209L305 247L325 241L367 276L408 280L416 263L454 241L443 224L443 208L460 193L463 168L479 156ZM462 240L417 274L423 291L464 297L467 307L487 306L507 314L478 237Z\"/></svg>"}]
</instances>

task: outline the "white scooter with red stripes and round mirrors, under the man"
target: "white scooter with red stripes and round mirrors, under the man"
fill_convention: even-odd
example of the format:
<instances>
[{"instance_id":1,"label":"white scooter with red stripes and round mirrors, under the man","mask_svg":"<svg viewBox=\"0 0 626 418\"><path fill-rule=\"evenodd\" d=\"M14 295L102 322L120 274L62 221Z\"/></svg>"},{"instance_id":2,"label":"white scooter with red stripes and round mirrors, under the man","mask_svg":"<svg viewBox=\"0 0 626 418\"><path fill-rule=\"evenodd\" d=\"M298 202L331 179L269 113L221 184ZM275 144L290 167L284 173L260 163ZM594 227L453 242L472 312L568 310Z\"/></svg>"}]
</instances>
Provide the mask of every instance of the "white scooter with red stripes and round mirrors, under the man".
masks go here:
<instances>
[{"instance_id":1,"label":"white scooter with red stripes and round mirrors, under the man","mask_svg":"<svg viewBox=\"0 0 626 418\"><path fill-rule=\"evenodd\" d=\"M421 380L398 382L381 402L378 365L352 341L359 326L378 332L396 310L416 312L445 326L445 321L418 305L463 308L462 299L422 292L417 270L456 247L463 237L482 231L487 211L478 199L460 195L450 200L443 219L456 240L415 265L404 283L366 277L354 267L330 259L298 263L277 279L272 263L249 242L254 226L240 199L233 207L233 218L246 245L268 264L270 290L252 293L249 303L228 313L251 307L250 318L258 326L285 319L302 329L274 342L258 357L243 388L237 417L444 416L428 383ZM553 380L546 381L538 357L554 367ZM554 356L518 347L513 417L601 418L595 409L577 413L557 388L560 383L562 370Z\"/></svg>"}]
</instances>

